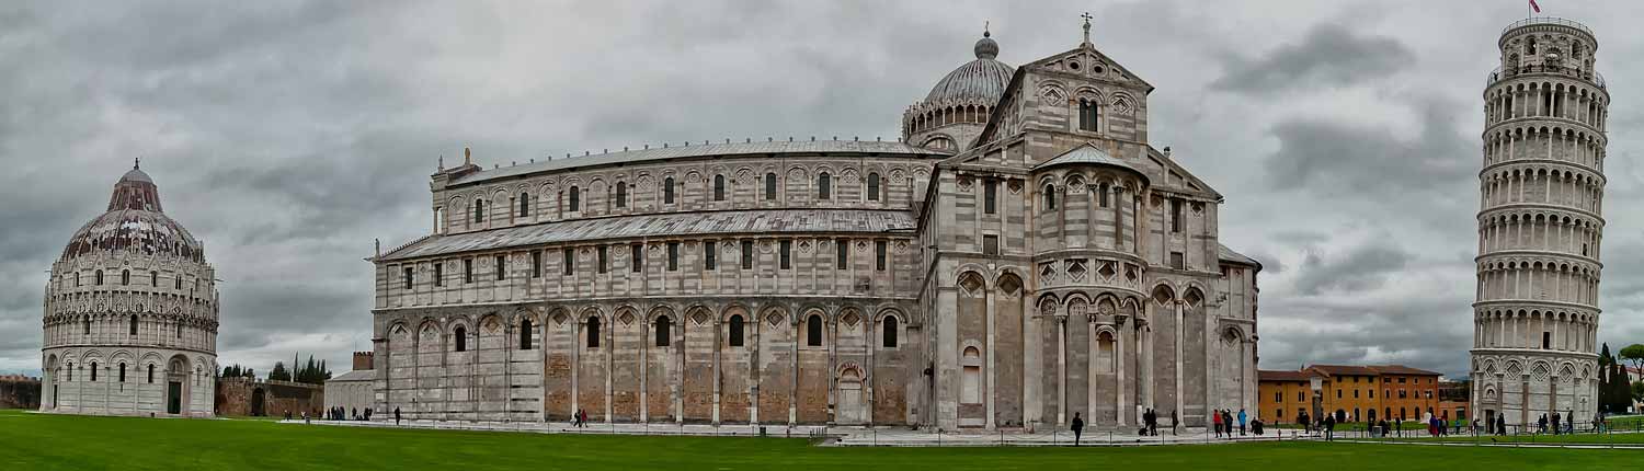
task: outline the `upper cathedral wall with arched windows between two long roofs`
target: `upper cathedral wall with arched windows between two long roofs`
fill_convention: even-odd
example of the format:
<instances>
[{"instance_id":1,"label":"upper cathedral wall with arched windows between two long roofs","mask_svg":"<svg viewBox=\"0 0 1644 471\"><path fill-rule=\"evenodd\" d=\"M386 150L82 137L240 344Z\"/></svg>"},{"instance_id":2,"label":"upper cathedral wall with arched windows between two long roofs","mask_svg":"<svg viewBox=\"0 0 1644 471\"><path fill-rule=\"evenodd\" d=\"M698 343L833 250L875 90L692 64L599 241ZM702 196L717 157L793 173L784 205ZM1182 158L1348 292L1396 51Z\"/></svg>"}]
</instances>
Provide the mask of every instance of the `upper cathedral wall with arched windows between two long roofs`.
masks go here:
<instances>
[{"instance_id":1,"label":"upper cathedral wall with arched windows between two long roofs","mask_svg":"<svg viewBox=\"0 0 1644 471\"><path fill-rule=\"evenodd\" d=\"M541 184L524 184L513 189L493 187L470 192L454 192L436 207L436 231L483 230L515 223L536 223L608 213L646 213L671 210L695 210L704 205L784 205L787 202L834 202L843 205L889 207L904 203L916 190L916 182L929 176L929 167L912 171L899 166L870 166L866 176L855 167L834 171L820 164L815 169L794 166L786 176L766 169L755 176L750 167L735 174L715 167L712 176L674 171L654 182L649 174L635 181L625 176L566 177ZM814 177L810 177L814 171ZM891 192L903 189L903 192ZM893 200L894 199L894 200ZM501 203L506 202L506 203ZM498 210L501 207L501 210Z\"/></svg>"}]
</instances>

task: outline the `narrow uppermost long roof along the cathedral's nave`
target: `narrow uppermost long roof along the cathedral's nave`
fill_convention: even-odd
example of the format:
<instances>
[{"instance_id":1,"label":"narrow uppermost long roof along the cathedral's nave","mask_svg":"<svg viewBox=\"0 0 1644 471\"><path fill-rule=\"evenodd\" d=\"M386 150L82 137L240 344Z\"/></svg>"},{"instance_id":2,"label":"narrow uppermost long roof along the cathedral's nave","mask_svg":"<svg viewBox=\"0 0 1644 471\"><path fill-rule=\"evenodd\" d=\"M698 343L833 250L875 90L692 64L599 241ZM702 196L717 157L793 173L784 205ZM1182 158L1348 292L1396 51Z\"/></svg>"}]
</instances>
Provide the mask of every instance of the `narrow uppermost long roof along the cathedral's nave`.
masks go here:
<instances>
[{"instance_id":1,"label":"narrow uppermost long roof along the cathedral's nave","mask_svg":"<svg viewBox=\"0 0 1644 471\"><path fill-rule=\"evenodd\" d=\"M807 154L807 153L861 153L861 154L911 154L911 156L947 156L901 141L764 141L764 143L715 143L684 144L651 149L620 151L608 154L538 161L523 166L500 169L480 169L450 179L450 185L495 181L503 177L526 176L547 171L562 171L593 166L616 166L663 159L705 158L705 156L741 156L741 154Z\"/></svg>"}]
</instances>

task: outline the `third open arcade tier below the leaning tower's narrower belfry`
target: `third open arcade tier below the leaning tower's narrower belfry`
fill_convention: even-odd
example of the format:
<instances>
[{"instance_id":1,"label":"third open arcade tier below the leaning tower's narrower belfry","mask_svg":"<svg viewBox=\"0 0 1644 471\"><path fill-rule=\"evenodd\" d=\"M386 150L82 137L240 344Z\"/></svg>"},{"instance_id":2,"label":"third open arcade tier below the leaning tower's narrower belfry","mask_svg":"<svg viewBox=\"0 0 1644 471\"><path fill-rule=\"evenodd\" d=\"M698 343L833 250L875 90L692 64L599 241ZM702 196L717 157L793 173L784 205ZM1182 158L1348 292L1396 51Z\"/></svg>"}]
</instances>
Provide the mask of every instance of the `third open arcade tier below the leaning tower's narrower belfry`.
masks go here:
<instances>
[{"instance_id":1,"label":"third open arcade tier below the leaning tower's narrower belfry","mask_svg":"<svg viewBox=\"0 0 1644 471\"><path fill-rule=\"evenodd\" d=\"M1598 176L1549 169L1503 169L1481 177L1485 207L1550 203L1600 213L1605 181Z\"/></svg>"}]
</instances>

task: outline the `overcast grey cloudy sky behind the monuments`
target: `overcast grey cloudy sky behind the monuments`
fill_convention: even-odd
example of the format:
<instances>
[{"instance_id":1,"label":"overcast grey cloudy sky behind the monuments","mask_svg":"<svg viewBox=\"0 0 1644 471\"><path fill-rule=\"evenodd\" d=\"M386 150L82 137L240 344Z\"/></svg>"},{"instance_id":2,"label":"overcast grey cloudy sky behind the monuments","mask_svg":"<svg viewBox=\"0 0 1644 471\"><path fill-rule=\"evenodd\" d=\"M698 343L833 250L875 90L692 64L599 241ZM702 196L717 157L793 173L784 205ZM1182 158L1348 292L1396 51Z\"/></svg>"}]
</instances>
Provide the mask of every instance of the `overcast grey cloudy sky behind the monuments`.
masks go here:
<instances>
[{"instance_id":1,"label":"overcast grey cloudy sky behind the monuments","mask_svg":"<svg viewBox=\"0 0 1644 471\"><path fill-rule=\"evenodd\" d=\"M1644 341L1644 62L1623 59L1644 3L1540 3L1598 33L1616 85L1600 338ZM1465 371L1480 94L1517 0L3 2L0 373L38 374L46 269L133 158L217 266L220 363L340 371L370 348L362 258L429 231L441 154L896 138L983 21L1023 64L1074 48L1083 11L1157 87L1152 144L1266 264L1261 368Z\"/></svg>"}]
</instances>

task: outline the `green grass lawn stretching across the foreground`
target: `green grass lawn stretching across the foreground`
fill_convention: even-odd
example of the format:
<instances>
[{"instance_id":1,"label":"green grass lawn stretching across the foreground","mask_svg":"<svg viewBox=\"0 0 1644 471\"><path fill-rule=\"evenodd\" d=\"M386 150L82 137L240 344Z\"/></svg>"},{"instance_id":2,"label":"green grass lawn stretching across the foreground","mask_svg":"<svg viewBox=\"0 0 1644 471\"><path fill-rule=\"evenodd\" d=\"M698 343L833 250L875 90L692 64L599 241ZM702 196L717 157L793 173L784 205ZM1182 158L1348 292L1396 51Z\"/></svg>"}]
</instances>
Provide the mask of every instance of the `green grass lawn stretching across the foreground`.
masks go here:
<instances>
[{"instance_id":1,"label":"green grass lawn stretching across the foreground","mask_svg":"<svg viewBox=\"0 0 1644 471\"><path fill-rule=\"evenodd\" d=\"M1632 450L1373 443L819 448L797 438L538 435L0 412L0 469L1614 469Z\"/></svg>"}]
</instances>

